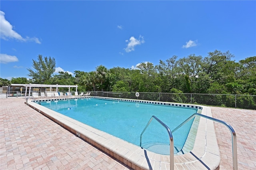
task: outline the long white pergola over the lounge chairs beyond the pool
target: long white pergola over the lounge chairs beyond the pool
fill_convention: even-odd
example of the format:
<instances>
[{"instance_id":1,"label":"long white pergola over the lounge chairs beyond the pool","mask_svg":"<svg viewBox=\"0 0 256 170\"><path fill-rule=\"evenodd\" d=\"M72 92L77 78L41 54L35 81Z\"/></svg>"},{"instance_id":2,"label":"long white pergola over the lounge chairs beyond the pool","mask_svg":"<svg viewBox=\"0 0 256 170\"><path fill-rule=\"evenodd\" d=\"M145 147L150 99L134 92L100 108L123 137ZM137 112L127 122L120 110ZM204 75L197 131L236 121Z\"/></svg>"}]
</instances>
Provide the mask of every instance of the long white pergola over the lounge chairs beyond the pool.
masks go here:
<instances>
[{"instance_id":1,"label":"long white pergola over the lounge chairs beyond the pool","mask_svg":"<svg viewBox=\"0 0 256 170\"><path fill-rule=\"evenodd\" d=\"M25 92L25 97L27 94L27 90L29 88L28 96L30 96L31 93L31 88L32 87L47 87L50 88L50 91L52 91L52 88L56 88L56 91L58 91L58 87L68 87L68 92L70 92L70 87L76 87L76 92L77 92L77 87L78 85L44 85L44 84L11 84L12 87L26 87L26 92Z\"/></svg>"}]
</instances>

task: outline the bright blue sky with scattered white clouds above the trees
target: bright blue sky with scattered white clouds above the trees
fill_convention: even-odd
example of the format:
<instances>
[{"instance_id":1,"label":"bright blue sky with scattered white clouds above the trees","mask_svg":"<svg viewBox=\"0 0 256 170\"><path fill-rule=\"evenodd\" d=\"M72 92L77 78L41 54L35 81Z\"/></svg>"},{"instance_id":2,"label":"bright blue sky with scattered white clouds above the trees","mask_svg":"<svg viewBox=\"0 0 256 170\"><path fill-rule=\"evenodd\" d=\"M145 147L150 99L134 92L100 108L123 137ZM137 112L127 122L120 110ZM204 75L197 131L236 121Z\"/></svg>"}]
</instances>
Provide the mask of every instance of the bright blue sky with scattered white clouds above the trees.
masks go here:
<instances>
[{"instance_id":1,"label":"bright blue sky with scattered white clouds above the trees","mask_svg":"<svg viewBox=\"0 0 256 170\"><path fill-rule=\"evenodd\" d=\"M256 1L0 1L0 77L28 77L32 59L56 72L134 68L230 51L256 56Z\"/></svg>"}]
</instances>

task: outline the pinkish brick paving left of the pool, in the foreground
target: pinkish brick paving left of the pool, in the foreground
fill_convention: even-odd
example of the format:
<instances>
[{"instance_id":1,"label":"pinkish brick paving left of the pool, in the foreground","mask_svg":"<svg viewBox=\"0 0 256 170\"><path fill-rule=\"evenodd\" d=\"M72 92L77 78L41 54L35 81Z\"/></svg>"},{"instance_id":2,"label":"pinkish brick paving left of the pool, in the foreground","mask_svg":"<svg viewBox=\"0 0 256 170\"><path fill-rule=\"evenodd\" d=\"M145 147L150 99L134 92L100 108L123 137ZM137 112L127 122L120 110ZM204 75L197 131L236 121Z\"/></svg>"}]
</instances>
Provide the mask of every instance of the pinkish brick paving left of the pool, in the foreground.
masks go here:
<instances>
[{"instance_id":1,"label":"pinkish brick paving left of the pool, in the foreground","mask_svg":"<svg viewBox=\"0 0 256 170\"><path fill-rule=\"evenodd\" d=\"M0 170L130 169L24 101L0 99Z\"/></svg>"}]
</instances>

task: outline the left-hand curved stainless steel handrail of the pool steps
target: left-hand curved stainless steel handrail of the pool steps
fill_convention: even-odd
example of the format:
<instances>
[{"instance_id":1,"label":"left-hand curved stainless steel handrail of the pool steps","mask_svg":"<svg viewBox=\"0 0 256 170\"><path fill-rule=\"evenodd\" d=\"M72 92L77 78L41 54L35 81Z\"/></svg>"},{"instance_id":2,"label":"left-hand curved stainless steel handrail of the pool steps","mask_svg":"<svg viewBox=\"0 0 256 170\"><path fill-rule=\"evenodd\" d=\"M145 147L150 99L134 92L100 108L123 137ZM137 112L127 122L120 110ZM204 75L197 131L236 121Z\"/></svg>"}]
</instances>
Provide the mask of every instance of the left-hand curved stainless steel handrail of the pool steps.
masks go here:
<instances>
[{"instance_id":1,"label":"left-hand curved stainless steel handrail of the pool steps","mask_svg":"<svg viewBox=\"0 0 256 170\"><path fill-rule=\"evenodd\" d=\"M173 137L172 137L172 132L170 130L170 128L165 125L162 121L160 121L157 117L152 116L150 118L150 120L148 121L148 124L146 125L146 127L143 129L143 131L140 134L140 147L141 147L141 141L142 141L142 134L144 133L144 131L146 130L146 128L148 127L148 125L151 123L152 119L156 119L163 127L166 128L166 130L168 131L169 134L169 138L170 138L170 170L174 170L174 149L173 149ZM172 162L172 164L171 164Z\"/></svg>"}]
</instances>

